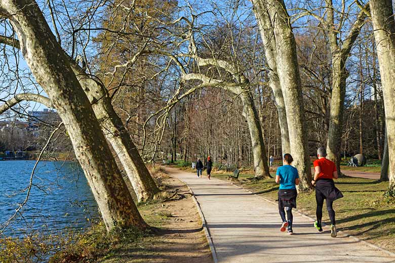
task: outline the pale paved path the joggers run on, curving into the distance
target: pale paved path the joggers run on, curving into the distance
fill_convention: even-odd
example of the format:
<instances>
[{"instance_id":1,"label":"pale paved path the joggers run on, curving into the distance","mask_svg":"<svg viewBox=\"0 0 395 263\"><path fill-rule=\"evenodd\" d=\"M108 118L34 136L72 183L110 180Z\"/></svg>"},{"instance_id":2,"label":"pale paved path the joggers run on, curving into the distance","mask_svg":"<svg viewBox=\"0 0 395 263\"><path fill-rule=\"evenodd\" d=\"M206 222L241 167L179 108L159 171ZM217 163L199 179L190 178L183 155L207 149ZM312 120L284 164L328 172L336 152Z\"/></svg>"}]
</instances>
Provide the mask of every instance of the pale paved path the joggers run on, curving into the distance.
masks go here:
<instances>
[{"instance_id":1,"label":"pale paved path the joggers run on, curving into the distance","mask_svg":"<svg viewBox=\"0 0 395 263\"><path fill-rule=\"evenodd\" d=\"M195 194L218 262L395 262L395 257L350 237L318 233L294 212L294 235L280 232L278 206L218 179L166 167Z\"/></svg>"}]
</instances>

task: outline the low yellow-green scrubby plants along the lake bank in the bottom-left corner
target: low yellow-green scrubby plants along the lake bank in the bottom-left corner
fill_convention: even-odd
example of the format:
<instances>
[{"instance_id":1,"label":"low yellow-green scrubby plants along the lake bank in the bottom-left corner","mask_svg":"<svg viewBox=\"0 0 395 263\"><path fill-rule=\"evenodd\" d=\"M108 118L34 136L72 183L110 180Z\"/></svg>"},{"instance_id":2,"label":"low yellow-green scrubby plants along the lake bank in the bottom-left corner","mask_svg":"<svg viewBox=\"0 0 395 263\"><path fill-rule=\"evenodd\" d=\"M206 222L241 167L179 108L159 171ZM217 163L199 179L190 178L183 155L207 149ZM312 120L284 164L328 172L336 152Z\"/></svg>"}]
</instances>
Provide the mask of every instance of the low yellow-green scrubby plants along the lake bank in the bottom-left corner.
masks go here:
<instances>
[{"instance_id":1,"label":"low yellow-green scrubby plants along the lake bank in the bottom-left corner","mask_svg":"<svg viewBox=\"0 0 395 263\"><path fill-rule=\"evenodd\" d=\"M136 228L115 228L107 233L99 223L85 233L65 230L61 234L29 234L24 238L0 238L2 263L96 262L121 243L134 243L148 233Z\"/></svg>"}]
</instances>

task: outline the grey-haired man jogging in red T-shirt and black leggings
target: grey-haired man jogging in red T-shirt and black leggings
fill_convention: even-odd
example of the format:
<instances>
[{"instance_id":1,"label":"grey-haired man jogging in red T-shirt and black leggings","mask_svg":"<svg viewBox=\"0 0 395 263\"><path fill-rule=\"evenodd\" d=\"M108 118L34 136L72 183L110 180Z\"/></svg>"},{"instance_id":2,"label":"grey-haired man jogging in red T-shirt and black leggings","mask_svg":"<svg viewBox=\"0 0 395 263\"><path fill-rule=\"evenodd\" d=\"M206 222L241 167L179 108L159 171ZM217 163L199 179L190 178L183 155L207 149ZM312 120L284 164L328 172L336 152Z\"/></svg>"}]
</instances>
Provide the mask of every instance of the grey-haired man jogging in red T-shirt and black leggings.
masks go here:
<instances>
[{"instance_id":1,"label":"grey-haired man jogging in red T-shirt and black leggings","mask_svg":"<svg viewBox=\"0 0 395 263\"><path fill-rule=\"evenodd\" d=\"M311 181L315 185L315 200L317 201L317 221L314 227L322 232L322 207L324 199L326 200L329 218L331 218L331 237L337 236L335 210L333 210L333 201L343 197L339 189L335 187L333 179L338 178L336 164L326 158L327 152L325 148L321 147L317 150L318 159L314 164L314 179Z\"/></svg>"}]
</instances>

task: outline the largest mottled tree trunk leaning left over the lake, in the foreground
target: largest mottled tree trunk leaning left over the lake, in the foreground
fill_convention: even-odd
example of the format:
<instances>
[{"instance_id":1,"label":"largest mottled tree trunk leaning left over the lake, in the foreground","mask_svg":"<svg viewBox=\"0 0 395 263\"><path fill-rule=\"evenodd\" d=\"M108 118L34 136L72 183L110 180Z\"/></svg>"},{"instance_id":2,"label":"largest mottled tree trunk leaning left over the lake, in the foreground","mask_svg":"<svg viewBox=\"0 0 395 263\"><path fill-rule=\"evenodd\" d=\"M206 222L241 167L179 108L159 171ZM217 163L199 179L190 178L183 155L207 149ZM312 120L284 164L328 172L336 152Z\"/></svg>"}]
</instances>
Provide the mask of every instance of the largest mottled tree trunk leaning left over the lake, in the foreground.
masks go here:
<instances>
[{"instance_id":1,"label":"largest mottled tree trunk leaning left over the lake, in the foreground","mask_svg":"<svg viewBox=\"0 0 395 263\"><path fill-rule=\"evenodd\" d=\"M116 225L146 228L103 134L98 133L90 102L38 5L32 0L3 0L0 14L8 16L27 65L67 129L107 230Z\"/></svg>"}]
</instances>

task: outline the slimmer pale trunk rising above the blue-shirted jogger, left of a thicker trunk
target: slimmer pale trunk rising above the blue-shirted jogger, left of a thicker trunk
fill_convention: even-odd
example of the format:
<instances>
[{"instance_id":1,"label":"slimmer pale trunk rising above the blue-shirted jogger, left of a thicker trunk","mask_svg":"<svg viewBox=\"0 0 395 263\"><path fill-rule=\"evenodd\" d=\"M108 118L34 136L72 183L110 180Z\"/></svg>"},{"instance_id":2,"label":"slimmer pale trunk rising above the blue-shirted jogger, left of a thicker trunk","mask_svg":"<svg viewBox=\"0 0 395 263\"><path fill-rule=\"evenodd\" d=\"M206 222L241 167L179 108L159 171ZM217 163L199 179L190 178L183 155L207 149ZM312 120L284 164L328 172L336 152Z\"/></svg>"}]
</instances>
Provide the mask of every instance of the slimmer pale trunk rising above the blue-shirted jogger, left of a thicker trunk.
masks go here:
<instances>
[{"instance_id":1,"label":"slimmer pale trunk rising above the blue-shirted jogger, left of a thicker trunk","mask_svg":"<svg viewBox=\"0 0 395 263\"><path fill-rule=\"evenodd\" d=\"M286 153L291 152L291 146L289 142L289 131L287 123L287 113L285 111L284 97L281 90L280 79L277 73L277 62L275 52L275 38L273 35L273 28L267 14L267 10L262 5L261 0L253 0L253 12L258 21L259 31L262 38L262 43L265 49L265 57L267 65L269 67L269 86L273 91L274 100L277 104L277 110L279 115L279 124L281 131L281 145L283 156Z\"/></svg>"}]
</instances>

